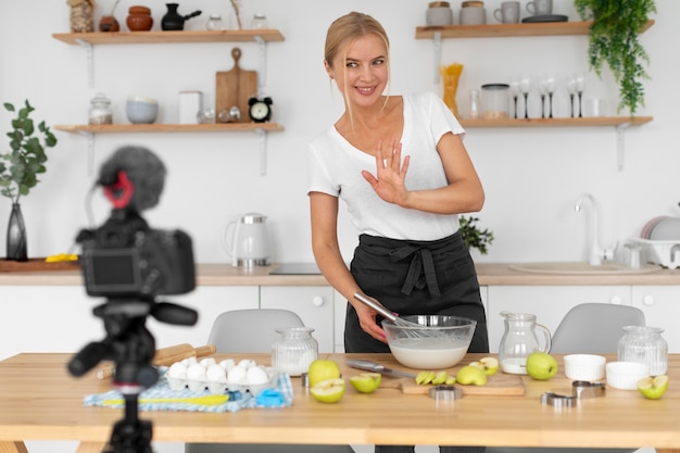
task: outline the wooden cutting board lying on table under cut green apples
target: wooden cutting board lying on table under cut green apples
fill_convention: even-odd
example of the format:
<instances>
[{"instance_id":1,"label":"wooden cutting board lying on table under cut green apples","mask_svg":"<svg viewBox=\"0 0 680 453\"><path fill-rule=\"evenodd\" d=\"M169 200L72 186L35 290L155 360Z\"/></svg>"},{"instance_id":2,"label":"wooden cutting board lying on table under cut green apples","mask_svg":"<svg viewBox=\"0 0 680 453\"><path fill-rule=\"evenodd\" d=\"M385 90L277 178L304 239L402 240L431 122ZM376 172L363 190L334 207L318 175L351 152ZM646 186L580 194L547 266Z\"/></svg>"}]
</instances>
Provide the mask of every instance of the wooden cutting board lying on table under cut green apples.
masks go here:
<instances>
[{"instance_id":1,"label":"wooden cutting board lying on table under cut green apples","mask_svg":"<svg viewBox=\"0 0 680 453\"><path fill-rule=\"evenodd\" d=\"M455 385L463 390L463 394L476 394L476 395L522 395L525 394L525 385L520 376L506 375L503 373L496 373L493 376L489 376L486 386L462 386ZM380 379L380 387L401 389L405 394L428 394L432 386L418 386L415 379L410 378L391 378L382 376Z\"/></svg>"}]
</instances>

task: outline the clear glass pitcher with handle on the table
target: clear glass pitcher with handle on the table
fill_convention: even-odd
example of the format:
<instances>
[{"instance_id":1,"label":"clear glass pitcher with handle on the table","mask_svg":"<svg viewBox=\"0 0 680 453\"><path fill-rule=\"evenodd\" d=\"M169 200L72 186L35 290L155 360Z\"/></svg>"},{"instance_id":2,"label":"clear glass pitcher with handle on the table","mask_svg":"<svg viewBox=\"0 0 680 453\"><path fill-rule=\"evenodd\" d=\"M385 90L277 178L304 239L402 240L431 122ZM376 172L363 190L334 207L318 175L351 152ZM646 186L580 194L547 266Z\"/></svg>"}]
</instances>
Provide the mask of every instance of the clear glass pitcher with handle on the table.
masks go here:
<instances>
[{"instance_id":1,"label":"clear glass pitcher with handle on the table","mask_svg":"<svg viewBox=\"0 0 680 453\"><path fill-rule=\"evenodd\" d=\"M501 337L499 362L503 373L527 374L527 357L536 351L550 352L552 340L547 327L536 322L529 313L501 312L505 319L505 331ZM537 331L540 331L540 338Z\"/></svg>"}]
</instances>

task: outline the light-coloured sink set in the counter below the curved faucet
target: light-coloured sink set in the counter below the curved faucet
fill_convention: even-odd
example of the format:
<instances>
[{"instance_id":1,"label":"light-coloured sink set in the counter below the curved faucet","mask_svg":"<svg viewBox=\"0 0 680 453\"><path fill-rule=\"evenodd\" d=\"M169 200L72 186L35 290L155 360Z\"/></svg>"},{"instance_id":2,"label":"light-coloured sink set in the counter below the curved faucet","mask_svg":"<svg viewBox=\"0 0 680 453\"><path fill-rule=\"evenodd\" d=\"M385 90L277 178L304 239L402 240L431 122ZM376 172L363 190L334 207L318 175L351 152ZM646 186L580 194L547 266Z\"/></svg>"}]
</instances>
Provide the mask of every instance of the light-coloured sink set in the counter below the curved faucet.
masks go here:
<instances>
[{"instance_id":1,"label":"light-coloured sink set in the counter below the curved faucet","mask_svg":"<svg viewBox=\"0 0 680 453\"><path fill-rule=\"evenodd\" d=\"M645 265L639 269L632 269L625 264L609 261L594 266L581 261L544 261L537 263L518 263L508 266L513 270L532 274L564 274L564 275L621 275L621 274L648 274L660 270L659 266Z\"/></svg>"}]
</instances>

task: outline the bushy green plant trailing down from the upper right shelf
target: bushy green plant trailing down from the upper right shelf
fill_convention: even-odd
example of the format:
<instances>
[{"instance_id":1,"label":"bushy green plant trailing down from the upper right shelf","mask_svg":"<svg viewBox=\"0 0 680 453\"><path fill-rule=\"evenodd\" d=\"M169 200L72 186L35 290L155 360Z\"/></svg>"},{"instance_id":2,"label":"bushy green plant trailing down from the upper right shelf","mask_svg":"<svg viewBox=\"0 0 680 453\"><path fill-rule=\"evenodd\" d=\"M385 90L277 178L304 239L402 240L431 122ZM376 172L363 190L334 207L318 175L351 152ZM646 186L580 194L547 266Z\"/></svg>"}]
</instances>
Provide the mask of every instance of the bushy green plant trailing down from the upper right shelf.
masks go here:
<instances>
[{"instance_id":1,"label":"bushy green plant trailing down from the upper right shelf","mask_svg":"<svg viewBox=\"0 0 680 453\"><path fill-rule=\"evenodd\" d=\"M617 111L626 108L634 116L644 106L642 79L648 79L643 63L650 56L638 37L651 13L656 12L654 0L574 0L576 11L590 26L588 55L590 66L602 76L604 63L619 85Z\"/></svg>"}]
</instances>

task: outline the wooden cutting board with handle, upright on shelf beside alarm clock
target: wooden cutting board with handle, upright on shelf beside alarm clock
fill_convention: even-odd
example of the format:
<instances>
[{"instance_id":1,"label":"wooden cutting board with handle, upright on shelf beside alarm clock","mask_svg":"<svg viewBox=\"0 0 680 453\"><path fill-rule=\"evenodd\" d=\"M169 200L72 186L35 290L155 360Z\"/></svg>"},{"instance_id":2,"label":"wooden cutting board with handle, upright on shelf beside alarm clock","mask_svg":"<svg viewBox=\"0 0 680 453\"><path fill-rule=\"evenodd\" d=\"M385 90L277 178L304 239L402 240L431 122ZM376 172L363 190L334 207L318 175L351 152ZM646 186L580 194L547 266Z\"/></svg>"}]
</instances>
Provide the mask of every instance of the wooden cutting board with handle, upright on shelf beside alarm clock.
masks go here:
<instances>
[{"instance_id":1,"label":"wooden cutting board with handle, upright on shelf beside alarm clock","mask_svg":"<svg viewBox=\"0 0 680 453\"><path fill-rule=\"evenodd\" d=\"M245 71L239 66L241 49L231 49L234 67L229 71L219 71L215 75L215 121L219 122L219 112L227 112L234 105L241 111L241 117L236 123L250 123L248 116L248 100L257 96L257 72Z\"/></svg>"}]
</instances>

